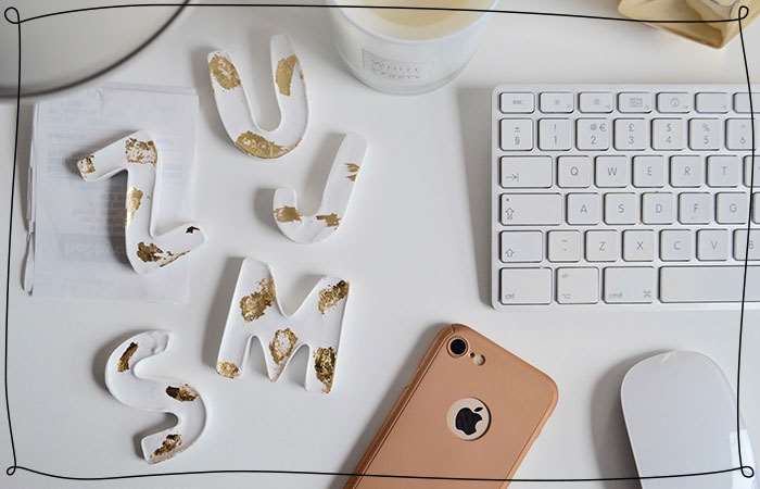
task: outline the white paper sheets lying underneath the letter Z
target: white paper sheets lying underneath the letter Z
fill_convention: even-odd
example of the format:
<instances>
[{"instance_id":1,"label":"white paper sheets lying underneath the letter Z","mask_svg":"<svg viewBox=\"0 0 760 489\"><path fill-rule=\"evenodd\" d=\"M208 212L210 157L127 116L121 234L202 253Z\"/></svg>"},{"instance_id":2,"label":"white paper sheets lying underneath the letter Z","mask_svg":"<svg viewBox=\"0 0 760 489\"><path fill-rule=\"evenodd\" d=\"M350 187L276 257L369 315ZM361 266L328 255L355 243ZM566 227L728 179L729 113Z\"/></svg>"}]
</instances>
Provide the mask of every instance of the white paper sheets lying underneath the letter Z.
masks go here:
<instances>
[{"instance_id":1,"label":"white paper sheets lying underneath the letter Z","mask_svg":"<svg viewBox=\"0 0 760 489\"><path fill-rule=\"evenodd\" d=\"M76 161L136 130L162 156L156 233L190 220L198 96L191 89L105 86L35 108L24 288L34 296L187 302L188 258L135 273L124 244L126 173L85 183Z\"/></svg>"}]
</instances>

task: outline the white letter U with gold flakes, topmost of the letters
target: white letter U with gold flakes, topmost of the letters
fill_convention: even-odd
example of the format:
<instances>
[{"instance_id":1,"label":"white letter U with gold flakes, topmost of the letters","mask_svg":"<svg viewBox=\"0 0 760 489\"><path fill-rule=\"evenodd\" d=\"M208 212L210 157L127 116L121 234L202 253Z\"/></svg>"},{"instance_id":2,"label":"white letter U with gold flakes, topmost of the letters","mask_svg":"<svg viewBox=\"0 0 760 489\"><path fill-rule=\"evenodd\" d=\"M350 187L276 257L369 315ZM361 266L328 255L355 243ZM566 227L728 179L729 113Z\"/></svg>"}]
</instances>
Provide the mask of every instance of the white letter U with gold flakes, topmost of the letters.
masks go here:
<instances>
[{"instance_id":1,"label":"white letter U with gold flakes, topmost of the letters","mask_svg":"<svg viewBox=\"0 0 760 489\"><path fill-rule=\"evenodd\" d=\"M224 51L208 53L211 85L227 135L243 153L265 160L292 151L303 139L308 124L308 99L301 61L288 36L273 36L270 51L275 95L280 108L280 124L274 130L256 124L232 57Z\"/></svg>"}]
</instances>

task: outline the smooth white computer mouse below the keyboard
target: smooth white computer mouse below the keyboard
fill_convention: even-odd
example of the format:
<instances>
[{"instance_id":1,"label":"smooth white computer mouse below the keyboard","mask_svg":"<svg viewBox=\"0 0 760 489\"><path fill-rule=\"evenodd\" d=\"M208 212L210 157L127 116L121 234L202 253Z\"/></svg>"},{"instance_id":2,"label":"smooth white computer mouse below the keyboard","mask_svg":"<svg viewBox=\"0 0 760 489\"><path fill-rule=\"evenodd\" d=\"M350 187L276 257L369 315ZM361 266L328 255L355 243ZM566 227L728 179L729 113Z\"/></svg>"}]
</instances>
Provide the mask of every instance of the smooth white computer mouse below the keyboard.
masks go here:
<instances>
[{"instance_id":1,"label":"smooth white computer mouse below the keyboard","mask_svg":"<svg viewBox=\"0 0 760 489\"><path fill-rule=\"evenodd\" d=\"M631 448L641 477L739 467L736 399L708 356L673 351L634 365L620 388ZM742 462L755 467L739 419ZM739 471L688 478L643 479L642 489L757 489Z\"/></svg>"}]
</instances>

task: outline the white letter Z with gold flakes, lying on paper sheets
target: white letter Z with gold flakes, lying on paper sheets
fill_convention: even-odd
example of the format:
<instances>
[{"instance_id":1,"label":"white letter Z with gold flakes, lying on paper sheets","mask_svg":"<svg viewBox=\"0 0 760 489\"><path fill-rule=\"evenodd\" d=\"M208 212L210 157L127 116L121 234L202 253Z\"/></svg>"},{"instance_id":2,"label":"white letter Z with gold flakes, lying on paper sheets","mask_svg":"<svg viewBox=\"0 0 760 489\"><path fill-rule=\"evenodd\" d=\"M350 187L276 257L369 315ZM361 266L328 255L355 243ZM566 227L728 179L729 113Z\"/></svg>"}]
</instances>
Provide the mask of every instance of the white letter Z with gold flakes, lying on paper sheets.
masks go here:
<instances>
[{"instance_id":1,"label":"white letter Z with gold flakes, lying on paper sheets","mask_svg":"<svg viewBox=\"0 0 760 489\"><path fill-rule=\"evenodd\" d=\"M144 274L168 266L205 242L194 224L154 235L153 215L161 188L161 151L144 130L119 139L77 162L85 181L99 181L127 171L125 244L135 272Z\"/></svg>"}]
</instances>

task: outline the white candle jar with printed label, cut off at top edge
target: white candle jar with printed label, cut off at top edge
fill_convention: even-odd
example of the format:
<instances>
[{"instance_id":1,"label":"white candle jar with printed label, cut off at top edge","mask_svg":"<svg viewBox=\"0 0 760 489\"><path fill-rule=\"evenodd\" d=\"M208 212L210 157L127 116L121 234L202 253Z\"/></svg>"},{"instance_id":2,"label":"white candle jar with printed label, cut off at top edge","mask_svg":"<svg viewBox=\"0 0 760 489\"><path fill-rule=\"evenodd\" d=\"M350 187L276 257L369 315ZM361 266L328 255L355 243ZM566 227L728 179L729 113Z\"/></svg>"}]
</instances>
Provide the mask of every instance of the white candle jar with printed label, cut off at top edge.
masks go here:
<instances>
[{"instance_id":1,"label":"white candle jar with printed label, cut off at top edge","mask_svg":"<svg viewBox=\"0 0 760 489\"><path fill-rule=\"evenodd\" d=\"M350 3L490 10L497 0ZM376 90L401 95L431 91L454 79L472 58L487 15L489 12L330 9L335 48L351 72Z\"/></svg>"}]
</instances>

